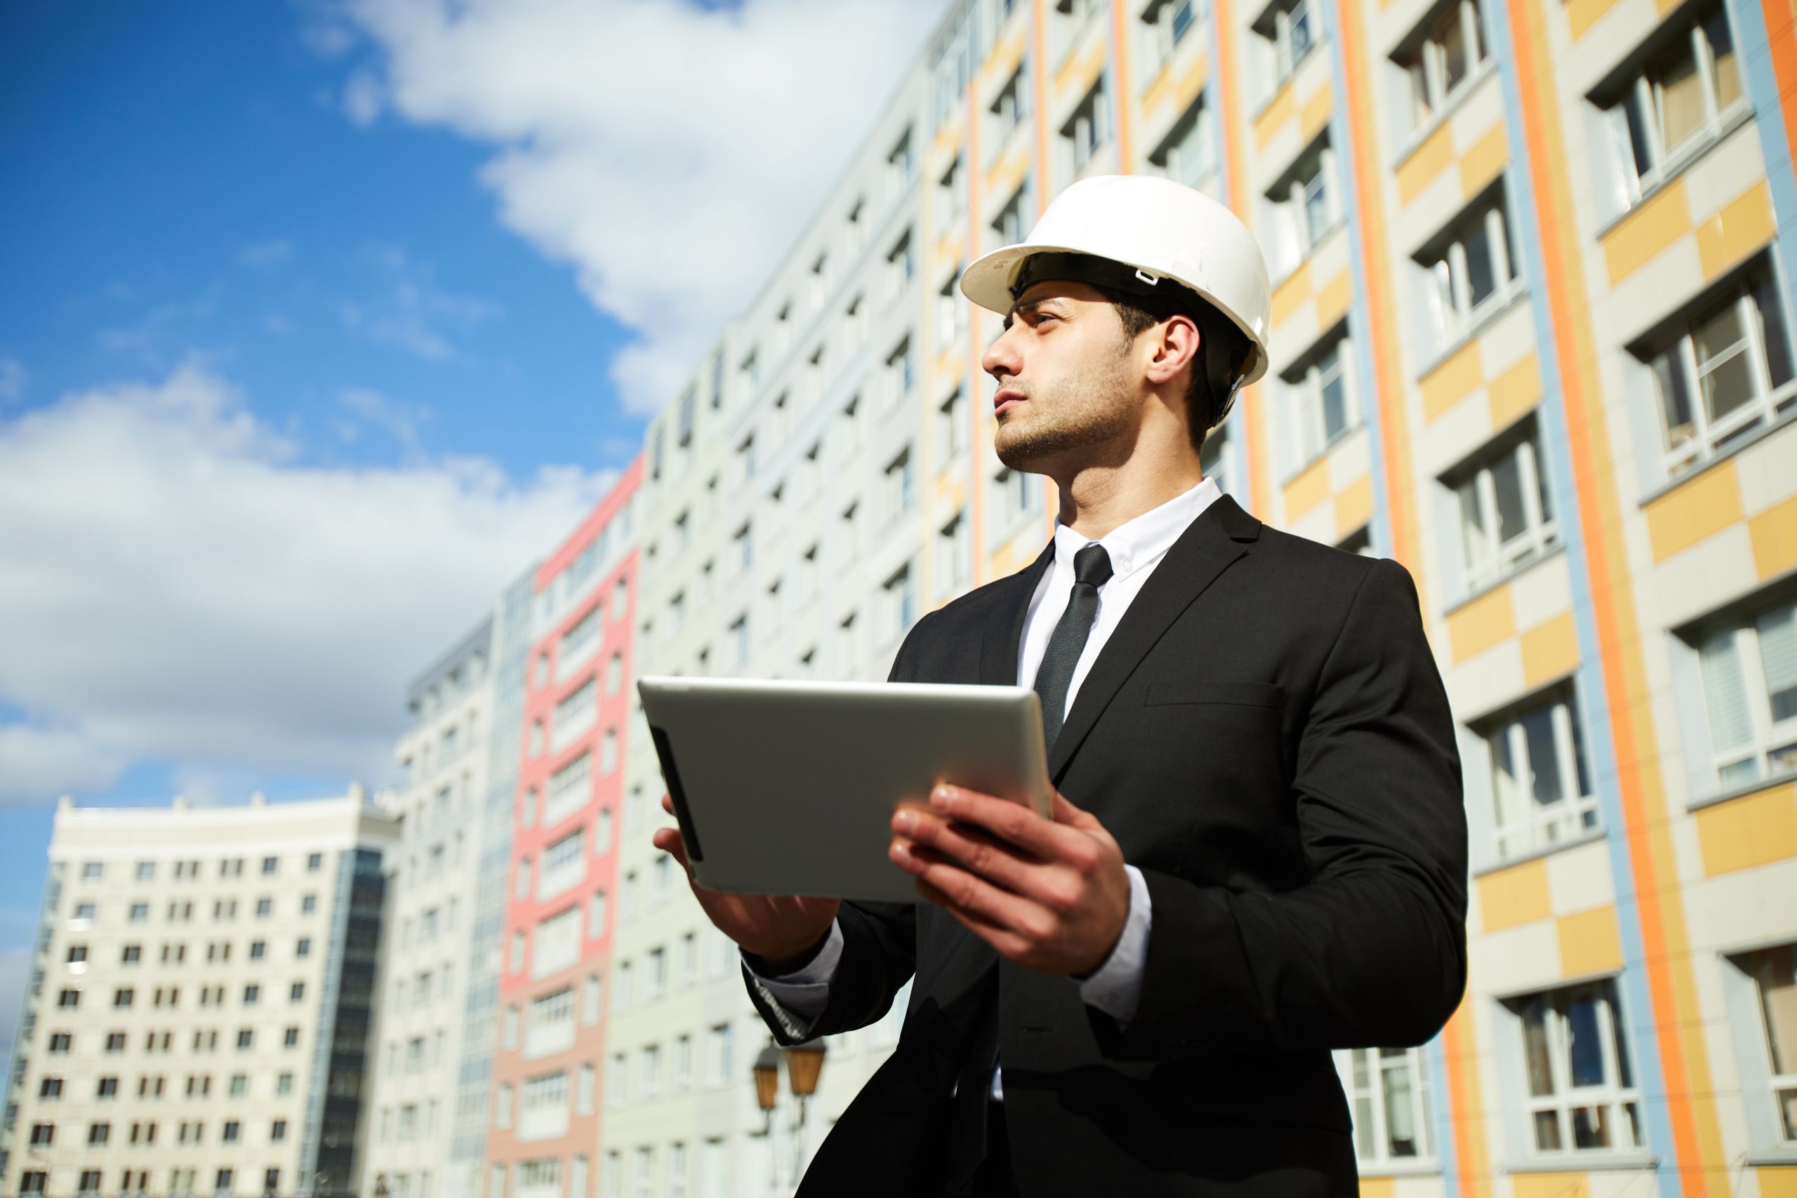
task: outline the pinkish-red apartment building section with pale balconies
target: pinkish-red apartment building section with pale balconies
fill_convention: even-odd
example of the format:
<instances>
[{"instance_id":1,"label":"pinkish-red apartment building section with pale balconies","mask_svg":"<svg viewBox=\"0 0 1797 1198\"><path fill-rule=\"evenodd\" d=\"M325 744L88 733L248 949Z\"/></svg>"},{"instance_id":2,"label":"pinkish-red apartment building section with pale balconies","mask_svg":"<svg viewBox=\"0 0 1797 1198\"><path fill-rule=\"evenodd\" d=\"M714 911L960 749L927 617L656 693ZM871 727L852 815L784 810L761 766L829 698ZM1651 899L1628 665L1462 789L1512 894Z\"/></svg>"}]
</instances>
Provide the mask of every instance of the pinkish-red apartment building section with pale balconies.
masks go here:
<instances>
[{"instance_id":1,"label":"pinkish-red apartment building section with pale balconies","mask_svg":"<svg viewBox=\"0 0 1797 1198\"><path fill-rule=\"evenodd\" d=\"M487 1132L491 1194L589 1193L634 693L634 462L536 569Z\"/></svg>"}]
</instances>

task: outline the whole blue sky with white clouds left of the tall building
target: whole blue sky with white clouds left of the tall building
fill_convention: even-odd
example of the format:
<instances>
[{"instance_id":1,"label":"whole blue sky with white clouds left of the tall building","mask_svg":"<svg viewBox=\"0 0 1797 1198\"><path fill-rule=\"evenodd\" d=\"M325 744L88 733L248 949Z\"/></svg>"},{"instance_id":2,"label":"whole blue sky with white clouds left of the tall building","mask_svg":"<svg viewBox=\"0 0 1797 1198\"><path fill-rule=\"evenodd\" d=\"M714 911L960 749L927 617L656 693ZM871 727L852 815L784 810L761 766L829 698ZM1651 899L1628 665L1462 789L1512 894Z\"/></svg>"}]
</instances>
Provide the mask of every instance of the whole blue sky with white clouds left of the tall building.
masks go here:
<instances>
[{"instance_id":1,"label":"whole blue sky with white clouds left of the tall building","mask_svg":"<svg viewBox=\"0 0 1797 1198\"><path fill-rule=\"evenodd\" d=\"M386 781L942 5L0 5L5 1058L56 796Z\"/></svg>"}]
</instances>

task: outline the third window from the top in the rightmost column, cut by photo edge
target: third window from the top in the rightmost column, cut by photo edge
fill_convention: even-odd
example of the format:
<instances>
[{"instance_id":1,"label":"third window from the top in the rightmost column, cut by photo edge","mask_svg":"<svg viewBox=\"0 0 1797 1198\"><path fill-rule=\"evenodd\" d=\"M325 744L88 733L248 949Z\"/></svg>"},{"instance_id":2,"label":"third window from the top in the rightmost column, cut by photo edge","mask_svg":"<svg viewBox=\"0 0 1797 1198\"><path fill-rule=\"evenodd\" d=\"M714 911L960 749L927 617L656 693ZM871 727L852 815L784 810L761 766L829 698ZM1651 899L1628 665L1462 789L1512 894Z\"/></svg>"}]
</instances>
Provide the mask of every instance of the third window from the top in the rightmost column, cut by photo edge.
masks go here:
<instances>
[{"instance_id":1,"label":"third window from the top in the rightmost column, cut by photo edge","mask_svg":"<svg viewBox=\"0 0 1797 1198\"><path fill-rule=\"evenodd\" d=\"M1698 663L1718 787L1797 771L1797 602L1714 629Z\"/></svg>"}]
</instances>

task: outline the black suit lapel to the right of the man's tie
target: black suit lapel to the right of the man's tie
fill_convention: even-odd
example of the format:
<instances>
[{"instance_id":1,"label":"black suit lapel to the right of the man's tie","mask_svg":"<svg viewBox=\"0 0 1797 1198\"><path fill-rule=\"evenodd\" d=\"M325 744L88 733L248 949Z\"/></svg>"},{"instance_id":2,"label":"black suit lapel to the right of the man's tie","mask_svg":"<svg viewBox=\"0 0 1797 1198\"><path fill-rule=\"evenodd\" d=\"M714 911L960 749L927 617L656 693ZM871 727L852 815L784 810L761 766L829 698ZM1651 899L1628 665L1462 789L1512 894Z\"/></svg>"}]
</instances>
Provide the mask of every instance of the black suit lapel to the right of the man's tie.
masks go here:
<instances>
[{"instance_id":1,"label":"black suit lapel to the right of the man's tie","mask_svg":"<svg viewBox=\"0 0 1797 1198\"><path fill-rule=\"evenodd\" d=\"M1058 785L1067 762L1093 731L1093 724L1116 697L1118 688L1136 672L1141 659L1154 648L1161 634L1217 580L1236 559L1247 555L1247 546L1260 537L1260 521L1244 512L1235 499L1222 496L1199 519L1191 521L1173 548L1148 577L1146 586L1123 612L1121 623L1093 661L1091 672L1080 683L1080 693L1067 711L1067 720L1048 754L1048 776ZM1024 598L1028 603L1028 596ZM1021 625L1019 625L1021 627ZM1014 641L1017 638L1012 638ZM1017 647L1012 645L1012 674L1015 675Z\"/></svg>"}]
</instances>

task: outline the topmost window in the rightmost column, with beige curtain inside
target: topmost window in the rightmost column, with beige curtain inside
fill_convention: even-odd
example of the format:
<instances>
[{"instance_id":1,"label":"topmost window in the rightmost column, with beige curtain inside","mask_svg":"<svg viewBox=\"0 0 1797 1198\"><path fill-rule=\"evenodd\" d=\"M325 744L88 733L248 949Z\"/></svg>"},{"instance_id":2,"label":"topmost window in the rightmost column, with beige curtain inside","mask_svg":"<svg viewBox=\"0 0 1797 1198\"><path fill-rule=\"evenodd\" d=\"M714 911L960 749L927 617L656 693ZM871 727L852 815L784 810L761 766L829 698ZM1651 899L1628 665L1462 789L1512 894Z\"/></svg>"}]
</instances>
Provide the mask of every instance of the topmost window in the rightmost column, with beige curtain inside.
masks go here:
<instances>
[{"instance_id":1,"label":"topmost window in the rightmost column, with beige curtain inside","mask_svg":"<svg viewBox=\"0 0 1797 1198\"><path fill-rule=\"evenodd\" d=\"M1678 29L1605 104L1616 163L1616 207L1628 208L1747 111L1741 65L1723 7Z\"/></svg>"}]
</instances>

